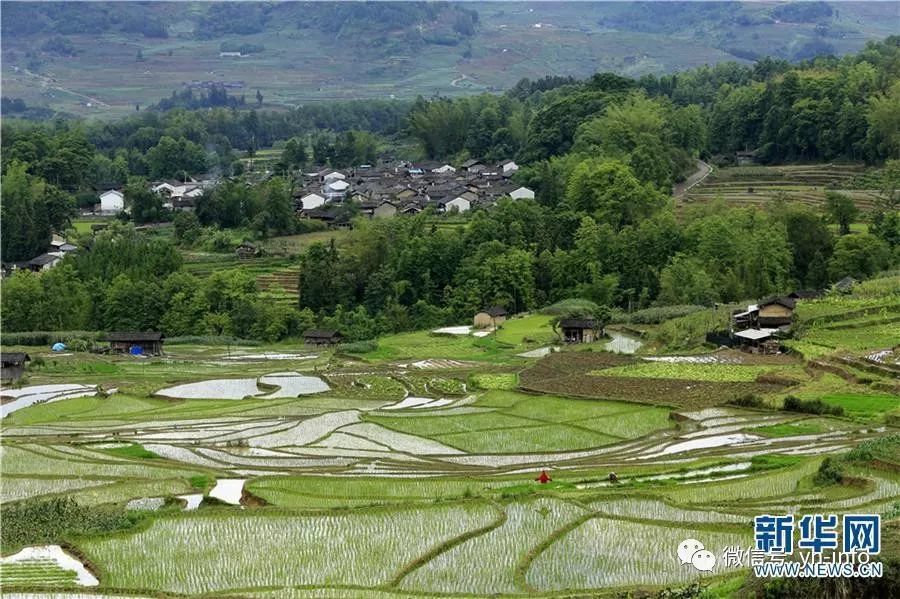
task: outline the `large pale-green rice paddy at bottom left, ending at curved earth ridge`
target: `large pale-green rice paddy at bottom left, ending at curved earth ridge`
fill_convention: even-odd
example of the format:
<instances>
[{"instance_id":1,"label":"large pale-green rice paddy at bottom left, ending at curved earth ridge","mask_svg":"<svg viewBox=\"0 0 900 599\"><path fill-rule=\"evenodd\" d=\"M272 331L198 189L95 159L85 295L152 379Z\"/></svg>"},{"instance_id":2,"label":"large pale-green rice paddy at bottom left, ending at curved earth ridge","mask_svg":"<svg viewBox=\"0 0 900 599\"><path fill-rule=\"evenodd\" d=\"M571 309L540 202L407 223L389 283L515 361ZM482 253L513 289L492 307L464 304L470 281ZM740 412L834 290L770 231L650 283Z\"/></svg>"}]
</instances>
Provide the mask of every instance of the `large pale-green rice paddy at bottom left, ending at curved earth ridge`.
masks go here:
<instances>
[{"instance_id":1,"label":"large pale-green rice paddy at bottom left, ending at curved earth ridge","mask_svg":"<svg viewBox=\"0 0 900 599\"><path fill-rule=\"evenodd\" d=\"M103 564L106 583L122 588L376 586L435 545L497 517L484 504L323 516L216 514L159 519L142 532L89 541L83 549Z\"/></svg>"}]
</instances>

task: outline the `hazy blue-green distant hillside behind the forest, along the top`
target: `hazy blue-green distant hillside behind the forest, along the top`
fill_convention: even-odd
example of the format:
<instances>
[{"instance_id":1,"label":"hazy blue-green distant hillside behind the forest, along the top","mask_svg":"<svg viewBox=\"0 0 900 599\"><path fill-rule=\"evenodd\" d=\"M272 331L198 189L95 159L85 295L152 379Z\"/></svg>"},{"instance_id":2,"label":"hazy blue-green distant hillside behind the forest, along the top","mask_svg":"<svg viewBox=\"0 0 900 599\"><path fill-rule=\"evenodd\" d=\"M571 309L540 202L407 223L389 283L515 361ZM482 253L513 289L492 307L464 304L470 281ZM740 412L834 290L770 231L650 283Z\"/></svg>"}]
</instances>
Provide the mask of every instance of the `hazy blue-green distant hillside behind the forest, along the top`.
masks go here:
<instances>
[{"instance_id":1,"label":"hazy blue-green distant hillside behind the forest, along the top","mask_svg":"<svg viewBox=\"0 0 900 599\"><path fill-rule=\"evenodd\" d=\"M888 2L5 3L3 95L99 116L209 81L259 89L269 106L459 95L547 74L843 54L897 17Z\"/></svg>"}]
</instances>

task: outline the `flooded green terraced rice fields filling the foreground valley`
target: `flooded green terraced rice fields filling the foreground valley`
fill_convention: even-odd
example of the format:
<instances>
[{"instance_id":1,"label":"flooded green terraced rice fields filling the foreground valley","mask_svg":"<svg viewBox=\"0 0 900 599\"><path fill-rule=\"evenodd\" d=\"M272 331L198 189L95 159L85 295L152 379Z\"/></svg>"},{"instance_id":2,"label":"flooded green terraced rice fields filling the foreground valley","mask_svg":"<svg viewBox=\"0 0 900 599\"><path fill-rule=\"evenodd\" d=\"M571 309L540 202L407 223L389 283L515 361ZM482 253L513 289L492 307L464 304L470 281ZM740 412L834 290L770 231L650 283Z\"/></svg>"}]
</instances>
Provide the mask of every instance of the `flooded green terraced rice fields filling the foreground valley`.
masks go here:
<instances>
[{"instance_id":1,"label":"flooded green terraced rice fields filling the foreground valley","mask_svg":"<svg viewBox=\"0 0 900 599\"><path fill-rule=\"evenodd\" d=\"M118 392L2 420L4 517L72 498L109 528L38 539L4 526L4 592L89 584L38 549L7 559L61 543L96 591L133 596L655 594L696 580L675 556L685 538L721 556L751 543L760 513L894 509L889 455L847 466L848 484L815 482L826 456L900 444L891 394L791 359L518 356L543 342L542 318L502 343L392 336L366 361L185 347L36 373ZM758 382L773 372L796 380ZM848 416L727 403L753 393Z\"/></svg>"}]
</instances>

